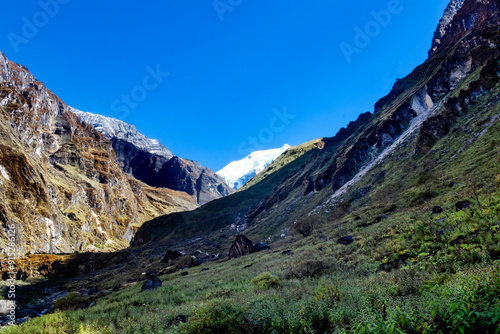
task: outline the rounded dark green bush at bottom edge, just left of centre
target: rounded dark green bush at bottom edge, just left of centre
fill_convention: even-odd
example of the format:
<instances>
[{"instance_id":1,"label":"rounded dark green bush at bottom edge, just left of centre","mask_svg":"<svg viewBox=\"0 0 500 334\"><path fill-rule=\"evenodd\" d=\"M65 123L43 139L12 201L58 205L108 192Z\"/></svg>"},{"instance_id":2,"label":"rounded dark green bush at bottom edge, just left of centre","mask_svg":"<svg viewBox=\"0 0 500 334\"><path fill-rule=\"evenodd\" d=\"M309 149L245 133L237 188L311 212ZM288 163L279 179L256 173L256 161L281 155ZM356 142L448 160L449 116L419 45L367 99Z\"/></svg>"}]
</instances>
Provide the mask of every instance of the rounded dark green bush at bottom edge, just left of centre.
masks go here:
<instances>
[{"instance_id":1,"label":"rounded dark green bush at bottom edge, just left of centre","mask_svg":"<svg viewBox=\"0 0 500 334\"><path fill-rule=\"evenodd\" d=\"M228 302L215 301L198 309L188 325L190 334L244 333L243 309Z\"/></svg>"}]
</instances>

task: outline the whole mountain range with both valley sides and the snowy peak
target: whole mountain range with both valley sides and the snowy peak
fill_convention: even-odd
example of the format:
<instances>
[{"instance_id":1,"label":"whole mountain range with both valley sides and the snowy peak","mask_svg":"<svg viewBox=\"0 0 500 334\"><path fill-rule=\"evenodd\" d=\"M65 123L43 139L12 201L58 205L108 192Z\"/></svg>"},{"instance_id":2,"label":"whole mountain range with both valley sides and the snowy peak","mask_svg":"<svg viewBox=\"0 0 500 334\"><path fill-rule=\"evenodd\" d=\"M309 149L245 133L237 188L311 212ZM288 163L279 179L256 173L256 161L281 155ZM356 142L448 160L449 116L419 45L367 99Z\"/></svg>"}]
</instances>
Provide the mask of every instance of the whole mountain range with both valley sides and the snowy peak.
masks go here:
<instances>
[{"instance_id":1,"label":"whole mountain range with both valley sides and the snowy peak","mask_svg":"<svg viewBox=\"0 0 500 334\"><path fill-rule=\"evenodd\" d=\"M0 220L23 231L16 242L133 234L112 253L16 259L19 277L49 281L37 291L66 295L6 333L498 332L499 0L451 0L428 58L373 112L227 166L228 196L198 206L180 192L196 209L146 184L170 151L116 120L82 122L27 69L0 65Z\"/></svg>"}]
</instances>

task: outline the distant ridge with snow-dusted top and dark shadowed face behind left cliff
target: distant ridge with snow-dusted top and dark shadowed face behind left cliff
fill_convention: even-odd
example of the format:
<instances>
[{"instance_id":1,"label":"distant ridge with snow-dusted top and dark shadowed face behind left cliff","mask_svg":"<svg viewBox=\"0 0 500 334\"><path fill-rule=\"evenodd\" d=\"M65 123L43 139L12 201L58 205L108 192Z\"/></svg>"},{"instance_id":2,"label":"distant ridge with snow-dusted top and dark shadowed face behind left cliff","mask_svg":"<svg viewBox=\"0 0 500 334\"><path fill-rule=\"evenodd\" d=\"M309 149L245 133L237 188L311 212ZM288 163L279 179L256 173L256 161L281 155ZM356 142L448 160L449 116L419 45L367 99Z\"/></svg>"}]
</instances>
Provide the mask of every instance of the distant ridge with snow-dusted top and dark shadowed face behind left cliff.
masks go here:
<instances>
[{"instance_id":1,"label":"distant ridge with snow-dusted top and dark shadowed face behind left cliff","mask_svg":"<svg viewBox=\"0 0 500 334\"><path fill-rule=\"evenodd\" d=\"M154 187L183 191L198 204L233 192L211 169L174 156L157 140L139 133L133 125L76 109L72 111L111 141L122 170L138 180Z\"/></svg>"}]
</instances>

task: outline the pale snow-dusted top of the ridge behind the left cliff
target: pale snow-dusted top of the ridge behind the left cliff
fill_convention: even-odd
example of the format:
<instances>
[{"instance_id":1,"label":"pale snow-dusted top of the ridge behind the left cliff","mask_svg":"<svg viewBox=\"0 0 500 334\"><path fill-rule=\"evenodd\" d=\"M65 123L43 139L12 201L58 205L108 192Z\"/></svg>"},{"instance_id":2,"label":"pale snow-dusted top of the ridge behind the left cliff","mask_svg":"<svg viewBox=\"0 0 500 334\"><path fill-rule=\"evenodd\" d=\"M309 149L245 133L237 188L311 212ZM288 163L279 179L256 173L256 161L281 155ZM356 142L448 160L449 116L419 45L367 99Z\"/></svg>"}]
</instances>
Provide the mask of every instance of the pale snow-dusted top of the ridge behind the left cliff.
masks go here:
<instances>
[{"instance_id":1,"label":"pale snow-dusted top of the ridge behind the left cliff","mask_svg":"<svg viewBox=\"0 0 500 334\"><path fill-rule=\"evenodd\" d=\"M139 149L167 159L171 159L174 156L172 152L158 140L146 137L137 131L137 128L133 125L118 119L80 111L75 108L70 108L70 110L82 121L96 128L97 131L101 132L109 140L113 138L122 139L134 144Z\"/></svg>"}]
</instances>

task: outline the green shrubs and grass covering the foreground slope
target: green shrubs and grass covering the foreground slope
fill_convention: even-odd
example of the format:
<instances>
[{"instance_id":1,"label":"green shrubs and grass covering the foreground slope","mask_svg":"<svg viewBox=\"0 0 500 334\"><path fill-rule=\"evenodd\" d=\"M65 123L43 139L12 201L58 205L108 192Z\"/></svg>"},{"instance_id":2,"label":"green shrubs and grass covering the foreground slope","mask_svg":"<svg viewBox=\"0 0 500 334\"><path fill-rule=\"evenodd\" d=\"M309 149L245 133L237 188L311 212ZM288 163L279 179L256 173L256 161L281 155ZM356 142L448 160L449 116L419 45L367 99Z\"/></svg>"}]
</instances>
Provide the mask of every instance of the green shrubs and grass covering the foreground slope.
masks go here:
<instances>
[{"instance_id":1,"label":"green shrubs and grass covering the foreground slope","mask_svg":"<svg viewBox=\"0 0 500 334\"><path fill-rule=\"evenodd\" d=\"M500 192L488 197L431 221L404 210L352 226L348 246L326 221L291 256L204 264L155 291L137 284L5 333L499 333Z\"/></svg>"}]
</instances>

